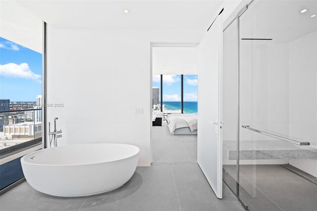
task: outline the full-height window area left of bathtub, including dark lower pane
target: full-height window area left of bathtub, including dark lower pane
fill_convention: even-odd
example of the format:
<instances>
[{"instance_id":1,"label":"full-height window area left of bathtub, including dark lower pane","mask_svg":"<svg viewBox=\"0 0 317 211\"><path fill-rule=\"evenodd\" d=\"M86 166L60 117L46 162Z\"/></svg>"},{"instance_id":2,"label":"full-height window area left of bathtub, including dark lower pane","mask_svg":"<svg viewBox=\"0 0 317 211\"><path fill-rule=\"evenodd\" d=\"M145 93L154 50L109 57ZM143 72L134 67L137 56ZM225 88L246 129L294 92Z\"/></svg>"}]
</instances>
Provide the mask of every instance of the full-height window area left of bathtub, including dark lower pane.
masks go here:
<instances>
[{"instance_id":1,"label":"full-height window area left of bathtub, including dark lower pane","mask_svg":"<svg viewBox=\"0 0 317 211\"><path fill-rule=\"evenodd\" d=\"M24 177L19 158L42 148L42 20L17 2L1 1L0 26L2 190Z\"/></svg>"}]
</instances>

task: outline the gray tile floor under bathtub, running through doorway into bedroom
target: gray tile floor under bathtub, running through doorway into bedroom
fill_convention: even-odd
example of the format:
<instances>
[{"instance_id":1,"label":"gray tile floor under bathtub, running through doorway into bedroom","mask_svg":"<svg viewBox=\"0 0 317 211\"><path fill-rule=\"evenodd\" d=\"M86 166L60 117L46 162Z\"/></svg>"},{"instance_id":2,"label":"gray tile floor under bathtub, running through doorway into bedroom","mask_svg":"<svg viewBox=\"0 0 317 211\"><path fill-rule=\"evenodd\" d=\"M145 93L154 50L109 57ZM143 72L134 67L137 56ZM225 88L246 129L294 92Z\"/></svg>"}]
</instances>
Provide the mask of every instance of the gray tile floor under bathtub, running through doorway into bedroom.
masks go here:
<instances>
[{"instance_id":1,"label":"gray tile floor under bathtub, running through doorway into bedroom","mask_svg":"<svg viewBox=\"0 0 317 211\"><path fill-rule=\"evenodd\" d=\"M0 196L0 211L244 211L227 186L223 186L223 199L214 195L196 161L195 136L170 137L175 143L156 141L157 161L150 167L137 167L132 178L115 191L60 198L42 194L23 182ZM176 144L183 146L182 153L174 153L179 150Z\"/></svg>"}]
</instances>

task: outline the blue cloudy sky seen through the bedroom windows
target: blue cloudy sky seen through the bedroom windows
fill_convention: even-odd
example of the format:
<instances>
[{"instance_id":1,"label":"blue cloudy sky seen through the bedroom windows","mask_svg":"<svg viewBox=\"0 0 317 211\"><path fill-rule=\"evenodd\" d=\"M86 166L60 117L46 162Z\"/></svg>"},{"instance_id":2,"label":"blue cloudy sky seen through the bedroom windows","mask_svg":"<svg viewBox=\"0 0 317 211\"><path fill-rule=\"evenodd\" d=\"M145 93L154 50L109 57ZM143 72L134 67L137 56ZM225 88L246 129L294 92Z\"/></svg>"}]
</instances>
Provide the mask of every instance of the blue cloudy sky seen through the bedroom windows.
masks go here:
<instances>
[{"instance_id":1,"label":"blue cloudy sky seen through the bedroom windows","mask_svg":"<svg viewBox=\"0 0 317 211\"><path fill-rule=\"evenodd\" d=\"M197 75L184 75L184 101L197 101ZM153 75L153 87L160 87L160 75ZM163 102L180 101L181 76L163 75Z\"/></svg>"}]
</instances>

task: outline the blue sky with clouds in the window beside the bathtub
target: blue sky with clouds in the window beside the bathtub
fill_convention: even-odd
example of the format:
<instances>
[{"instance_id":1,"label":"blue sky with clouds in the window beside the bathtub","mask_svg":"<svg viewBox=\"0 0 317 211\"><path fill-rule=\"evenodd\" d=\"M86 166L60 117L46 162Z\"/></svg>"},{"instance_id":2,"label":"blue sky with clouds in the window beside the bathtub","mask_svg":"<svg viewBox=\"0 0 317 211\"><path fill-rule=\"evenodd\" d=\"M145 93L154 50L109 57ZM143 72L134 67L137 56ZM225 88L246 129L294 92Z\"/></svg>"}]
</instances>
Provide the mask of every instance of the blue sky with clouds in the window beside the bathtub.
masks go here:
<instances>
[{"instance_id":1,"label":"blue sky with clouds in the window beside the bathtub","mask_svg":"<svg viewBox=\"0 0 317 211\"><path fill-rule=\"evenodd\" d=\"M0 37L0 99L35 101L42 94L42 54Z\"/></svg>"}]
</instances>

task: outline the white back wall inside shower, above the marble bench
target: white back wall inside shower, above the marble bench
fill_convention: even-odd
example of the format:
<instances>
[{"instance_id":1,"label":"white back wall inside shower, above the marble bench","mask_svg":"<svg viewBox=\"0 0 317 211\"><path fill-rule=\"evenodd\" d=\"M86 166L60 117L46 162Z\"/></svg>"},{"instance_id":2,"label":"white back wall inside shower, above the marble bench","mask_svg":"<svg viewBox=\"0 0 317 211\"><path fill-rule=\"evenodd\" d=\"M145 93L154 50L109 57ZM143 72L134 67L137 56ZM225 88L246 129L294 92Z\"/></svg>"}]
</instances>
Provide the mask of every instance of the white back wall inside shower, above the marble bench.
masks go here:
<instances>
[{"instance_id":1,"label":"white back wall inside shower, above the marble bench","mask_svg":"<svg viewBox=\"0 0 317 211\"><path fill-rule=\"evenodd\" d=\"M287 43L240 42L240 122L241 125L288 134ZM240 140L271 139L241 129Z\"/></svg>"}]
</instances>

